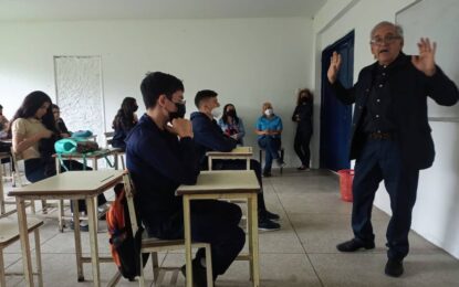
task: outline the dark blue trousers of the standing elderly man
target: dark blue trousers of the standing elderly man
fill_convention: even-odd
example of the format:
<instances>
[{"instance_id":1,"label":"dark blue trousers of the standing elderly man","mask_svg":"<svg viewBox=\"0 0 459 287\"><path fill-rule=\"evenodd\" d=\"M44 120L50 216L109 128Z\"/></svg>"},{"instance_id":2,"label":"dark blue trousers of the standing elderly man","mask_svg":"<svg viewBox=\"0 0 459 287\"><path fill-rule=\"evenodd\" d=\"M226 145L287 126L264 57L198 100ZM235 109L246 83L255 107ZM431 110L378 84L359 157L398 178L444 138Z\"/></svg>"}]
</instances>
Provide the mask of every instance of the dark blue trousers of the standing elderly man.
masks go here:
<instances>
[{"instance_id":1,"label":"dark blue trousers of the standing elderly man","mask_svg":"<svg viewBox=\"0 0 459 287\"><path fill-rule=\"evenodd\" d=\"M390 198L392 219L387 227L387 256L401 261L409 251L408 233L416 202L419 170L404 167L394 140L367 140L355 163L352 227L362 242L374 242L372 208L375 192L384 180Z\"/></svg>"}]
</instances>

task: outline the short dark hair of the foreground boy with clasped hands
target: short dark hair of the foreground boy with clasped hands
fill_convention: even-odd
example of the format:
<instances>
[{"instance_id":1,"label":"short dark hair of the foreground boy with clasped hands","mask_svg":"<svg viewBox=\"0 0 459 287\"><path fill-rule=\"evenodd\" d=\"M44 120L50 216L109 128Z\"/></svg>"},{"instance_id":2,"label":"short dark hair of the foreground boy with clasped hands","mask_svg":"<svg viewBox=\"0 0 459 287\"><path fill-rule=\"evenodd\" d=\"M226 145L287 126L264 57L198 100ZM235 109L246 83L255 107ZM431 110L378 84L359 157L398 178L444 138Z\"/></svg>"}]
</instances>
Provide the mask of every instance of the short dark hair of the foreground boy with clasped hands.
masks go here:
<instances>
[{"instance_id":1,"label":"short dark hair of the foreground boy with clasped hands","mask_svg":"<svg viewBox=\"0 0 459 287\"><path fill-rule=\"evenodd\" d=\"M185 88L184 83L177 77L163 72L154 72L147 73L142 81L140 91L145 107L150 108L156 106L160 95L166 95L167 98L171 99L174 93L185 92Z\"/></svg>"}]
</instances>

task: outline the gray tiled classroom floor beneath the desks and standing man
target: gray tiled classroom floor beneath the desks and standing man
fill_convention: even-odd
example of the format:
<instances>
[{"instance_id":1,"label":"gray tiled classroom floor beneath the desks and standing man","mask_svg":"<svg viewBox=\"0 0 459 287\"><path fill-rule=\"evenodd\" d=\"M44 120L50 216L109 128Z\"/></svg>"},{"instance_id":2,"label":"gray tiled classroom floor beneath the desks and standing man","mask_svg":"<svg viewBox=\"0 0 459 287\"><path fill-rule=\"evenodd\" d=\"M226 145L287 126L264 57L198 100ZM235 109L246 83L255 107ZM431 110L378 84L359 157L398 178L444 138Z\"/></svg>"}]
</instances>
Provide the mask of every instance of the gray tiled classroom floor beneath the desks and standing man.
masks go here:
<instances>
[{"instance_id":1,"label":"gray tiled classroom floor beneath the desks and standing man","mask_svg":"<svg viewBox=\"0 0 459 287\"><path fill-rule=\"evenodd\" d=\"M272 287L296 286L459 286L459 261L411 232L411 252L405 261L401 278L384 275L386 263L385 230L388 216L374 210L376 248L372 252L341 254L336 243L352 236L350 214L352 204L340 200L335 176L326 171L296 172L284 170L279 177L264 179L269 209L282 216L282 230L260 234L261 285ZM8 185L8 183L7 183ZM7 188L8 190L8 188ZM109 194L111 192L107 192ZM104 223L101 228L105 230ZM106 232L100 233L102 253L108 253ZM91 266L85 265L86 281L77 283L73 255L73 234L59 233L56 221L45 220L41 228L45 286L92 286ZM83 252L88 252L87 234ZM160 255L165 266L181 266L181 252ZM8 272L22 268L19 244L6 249ZM113 264L102 264L103 281L115 273ZM180 274L164 274L161 286L184 286ZM146 267L152 278L152 268ZM250 286L248 264L236 262L217 286ZM152 281L147 281L152 285ZM21 277L9 277L7 286L23 286ZM122 279L118 286L138 286Z\"/></svg>"}]
</instances>

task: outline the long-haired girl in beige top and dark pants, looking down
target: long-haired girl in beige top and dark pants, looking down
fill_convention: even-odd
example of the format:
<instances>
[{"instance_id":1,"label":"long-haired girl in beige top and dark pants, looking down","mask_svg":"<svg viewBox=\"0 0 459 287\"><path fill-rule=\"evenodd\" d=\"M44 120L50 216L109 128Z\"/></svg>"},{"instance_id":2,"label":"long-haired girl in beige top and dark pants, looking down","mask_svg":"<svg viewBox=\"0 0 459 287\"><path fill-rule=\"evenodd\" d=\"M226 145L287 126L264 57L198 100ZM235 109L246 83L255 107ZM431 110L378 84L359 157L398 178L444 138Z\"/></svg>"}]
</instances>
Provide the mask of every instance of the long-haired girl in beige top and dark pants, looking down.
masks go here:
<instances>
[{"instance_id":1,"label":"long-haired girl in beige top and dark pants, looking down","mask_svg":"<svg viewBox=\"0 0 459 287\"><path fill-rule=\"evenodd\" d=\"M36 182L55 174L54 142L60 138L51 108L51 98L45 93L30 93L15 111L11 120L13 151L24 160L25 178ZM65 160L70 170L83 170L83 164ZM91 168L86 168L91 170ZM63 172L64 170L62 170ZM98 204L106 203L104 194L98 195ZM83 200L79 201L80 211L86 211ZM71 225L72 226L72 225ZM87 231L87 223L81 223L82 231Z\"/></svg>"}]
</instances>

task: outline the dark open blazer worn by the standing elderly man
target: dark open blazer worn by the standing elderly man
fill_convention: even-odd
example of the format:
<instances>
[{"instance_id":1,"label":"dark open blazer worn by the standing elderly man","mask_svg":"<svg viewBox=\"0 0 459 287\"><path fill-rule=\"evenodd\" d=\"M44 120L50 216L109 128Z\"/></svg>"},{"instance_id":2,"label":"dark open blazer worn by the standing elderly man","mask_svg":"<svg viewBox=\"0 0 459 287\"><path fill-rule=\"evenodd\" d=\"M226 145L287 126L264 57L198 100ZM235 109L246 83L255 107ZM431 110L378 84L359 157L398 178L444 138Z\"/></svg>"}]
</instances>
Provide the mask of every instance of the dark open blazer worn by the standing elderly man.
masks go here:
<instances>
[{"instance_id":1,"label":"dark open blazer worn by the standing elderly man","mask_svg":"<svg viewBox=\"0 0 459 287\"><path fill-rule=\"evenodd\" d=\"M363 132L363 111L368 99L374 70L378 63L364 67L352 88L336 81L332 85L335 96L345 105L355 103L351 131L351 159L357 159L367 136ZM387 66L387 83L390 94L390 115L396 126L395 139L400 146L405 167L426 169L435 158L434 140L427 118L427 97L437 104L452 106L458 102L458 88L437 66L434 76L428 77L411 63L411 57L400 53Z\"/></svg>"}]
</instances>

